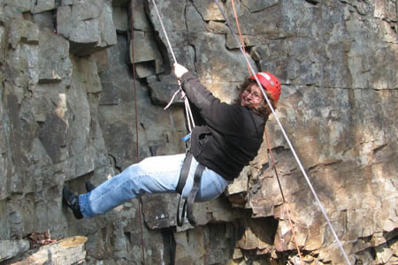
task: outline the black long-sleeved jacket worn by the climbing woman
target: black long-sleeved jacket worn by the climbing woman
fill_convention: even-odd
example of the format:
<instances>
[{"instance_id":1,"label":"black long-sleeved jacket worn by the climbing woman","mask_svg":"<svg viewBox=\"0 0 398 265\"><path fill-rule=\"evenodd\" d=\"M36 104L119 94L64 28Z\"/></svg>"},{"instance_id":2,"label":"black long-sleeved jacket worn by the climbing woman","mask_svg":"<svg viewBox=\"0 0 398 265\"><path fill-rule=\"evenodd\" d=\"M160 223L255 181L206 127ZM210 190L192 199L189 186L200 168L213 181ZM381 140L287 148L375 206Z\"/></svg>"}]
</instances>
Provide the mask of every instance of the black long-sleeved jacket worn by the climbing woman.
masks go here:
<instances>
[{"instance_id":1,"label":"black long-sleeved jacket worn by the climbing woman","mask_svg":"<svg viewBox=\"0 0 398 265\"><path fill-rule=\"evenodd\" d=\"M257 155L266 120L247 107L220 102L190 72L182 75L181 85L204 121L191 135L196 161L227 180L237 178Z\"/></svg>"}]
</instances>

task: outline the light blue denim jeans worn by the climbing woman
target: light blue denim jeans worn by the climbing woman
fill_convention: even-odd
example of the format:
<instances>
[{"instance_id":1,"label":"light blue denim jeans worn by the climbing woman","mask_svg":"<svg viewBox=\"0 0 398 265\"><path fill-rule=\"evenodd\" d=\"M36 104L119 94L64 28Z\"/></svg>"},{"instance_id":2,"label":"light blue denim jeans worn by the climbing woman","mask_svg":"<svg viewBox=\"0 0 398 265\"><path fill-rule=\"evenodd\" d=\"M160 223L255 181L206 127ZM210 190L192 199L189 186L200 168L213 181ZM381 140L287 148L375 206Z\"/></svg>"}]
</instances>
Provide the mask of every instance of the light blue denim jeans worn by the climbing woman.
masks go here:
<instances>
[{"instance_id":1,"label":"light blue denim jeans worn by the climbing woman","mask_svg":"<svg viewBox=\"0 0 398 265\"><path fill-rule=\"evenodd\" d=\"M91 218L144 193L175 192L184 158L185 154L153 156L129 166L90 193L80 194L81 213L85 218ZM197 165L193 157L187 183L182 190L183 198L188 198ZM230 181L206 167L195 201L216 199L229 183Z\"/></svg>"}]
</instances>

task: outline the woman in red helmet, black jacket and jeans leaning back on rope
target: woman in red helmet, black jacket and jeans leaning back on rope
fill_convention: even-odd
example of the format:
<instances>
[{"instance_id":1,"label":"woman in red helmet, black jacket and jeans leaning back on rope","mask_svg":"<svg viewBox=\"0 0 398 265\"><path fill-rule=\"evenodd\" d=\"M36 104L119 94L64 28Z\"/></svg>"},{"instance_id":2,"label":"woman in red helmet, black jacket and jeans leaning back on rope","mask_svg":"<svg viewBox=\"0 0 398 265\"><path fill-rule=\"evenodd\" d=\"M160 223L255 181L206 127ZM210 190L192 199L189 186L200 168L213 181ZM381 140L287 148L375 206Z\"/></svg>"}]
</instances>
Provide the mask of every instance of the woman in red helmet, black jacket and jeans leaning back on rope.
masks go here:
<instances>
[{"instance_id":1,"label":"woman in red helmet, black jacket and jeans leaning back on rope","mask_svg":"<svg viewBox=\"0 0 398 265\"><path fill-rule=\"evenodd\" d=\"M188 198L191 190L194 190L195 177L202 179L196 187L197 193L193 199L216 199L257 155L263 142L264 125L271 110L264 101L264 95L254 76L241 84L237 101L226 104L203 87L199 79L184 66L174 64L173 72L201 118L201 122L191 133L192 161L186 169L185 184L180 186L179 180L188 155L148 157L100 186L88 188L92 189L88 193L77 195L65 186L63 201L72 209L76 218L101 215L144 193L180 190L181 196ZM275 108L280 95L279 80L267 72L256 73L256 78ZM198 168L202 170L197 170Z\"/></svg>"}]
</instances>

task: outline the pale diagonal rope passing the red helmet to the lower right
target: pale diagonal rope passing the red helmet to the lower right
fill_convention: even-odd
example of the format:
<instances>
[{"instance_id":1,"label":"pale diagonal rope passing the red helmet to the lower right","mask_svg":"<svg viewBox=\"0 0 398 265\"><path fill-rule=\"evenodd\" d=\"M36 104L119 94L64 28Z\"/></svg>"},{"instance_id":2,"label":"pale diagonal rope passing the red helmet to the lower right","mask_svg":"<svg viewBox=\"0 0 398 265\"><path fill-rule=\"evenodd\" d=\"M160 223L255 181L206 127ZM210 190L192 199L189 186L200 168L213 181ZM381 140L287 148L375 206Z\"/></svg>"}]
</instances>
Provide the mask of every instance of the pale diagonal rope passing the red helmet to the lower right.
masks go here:
<instances>
[{"instance_id":1,"label":"pale diagonal rope passing the red helmet to the lower right","mask_svg":"<svg viewBox=\"0 0 398 265\"><path fill-rule=\"evenodd\" d=\"M251 72L255 72L254 69L253 69L253 66L252 66L252 65L250 64L250 62L249 62L249 59L245 56L244 50L241 48L241 43L239 42L238 37L237 37L236 34L233 32L233 28L231 27L231 23L229 23L229 19L226 17L226 13L225 13L224 10L222 9L221 5L219 4L219 1L218 1L218 0L215 0L215 1L216 1L216 4L218 5L219 11L221 12L221 14L223 15L224 19L226 20L226 25L227 25L227 27L229 27L229 30L231 31L231 34L233 34L233 37L235 38L235 41L239 44L240 49L241 49L241 53L243 54L243 57L245 58L246 62L248 63ZM320 208L320 210L321 210L323 216L325 217L325 220L326 220L327 224L329 225L330 230L331 230L332 233L333 233L333 237L334 237L334 239L336 239L336 242L337 242L338 246L339 246L340 249L341 249L341 253L342 253L343 256L344 256L344 259L347 261L347 263L348 263L349 265L351 265L351 262L348 260L348 255L346 254L344 248L342 247L341 241L340 241L339 237L337 236L336 231L334 231L333 225L332 225L332 223L330 222L329 217L327 216L327 214L326 214L326 212L325 212L325 208L323 207L322 203L320 202L320 200L319 200L319 198L318 198L318 194L315 192L314 187L312 186L312 184L311 184L311 182L310 182L310 178L308 178L307 173L305 172L305 170L304 170L304 168L303 168L303 166L302 166L302 163L301 163L300 159L298 158L297 154L295 153L295 148L293 148L292 143L290 142L289 138L287 137L287 133L285 132L285 129L283 128L282 124L280 123L279 118L277 117L277 115L276 115L276 113L275 113L275 110L273 110L272 104L271 104L270 100L268 99L268 96L265 94L264 88L261 86L260 81L257 79L256 75L254 75L254 77L255 77L255 79L256 79L256 83L257 83L258 87L260 87L261 92L262 92L263 95L264 95L265 101L268 103L268 105L269 105L269 107L270 107L270 109L271 109L271 111L272 111L272 114L273 114L273 116L275 117L275 120L277 121L277 123L278 123L278 125L279 125L279 128L280 128L280 130L281 130L283 136L285 137L285 140L287 140L287 144L288 144L290 150L292 151L293 155L295 156L295 161L296 161L297 164L299 165L300 170L302 170L302 175L304 176L305 180L307 181L307 184L310 186L311 193L314 195L314 197L315 197L315 199L316 199L316 201L317 201L317 203L318 203L318 206L319 206L319 208Z\"/></svg>"}]
</instances>

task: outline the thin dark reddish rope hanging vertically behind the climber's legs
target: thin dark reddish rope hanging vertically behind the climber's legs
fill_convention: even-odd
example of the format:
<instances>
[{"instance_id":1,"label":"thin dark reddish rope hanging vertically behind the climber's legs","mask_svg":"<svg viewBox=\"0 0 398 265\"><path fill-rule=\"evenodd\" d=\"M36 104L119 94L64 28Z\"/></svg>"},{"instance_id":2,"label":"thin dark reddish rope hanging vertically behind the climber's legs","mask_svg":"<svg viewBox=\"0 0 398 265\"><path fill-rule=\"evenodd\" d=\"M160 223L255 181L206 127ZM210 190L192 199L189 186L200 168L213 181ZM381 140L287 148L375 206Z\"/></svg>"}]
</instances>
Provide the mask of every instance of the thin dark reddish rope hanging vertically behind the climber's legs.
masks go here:
<instances>
[{"instance_id":1,"label":"thin dark reddish rope hanging vertically behind the climber's legs","mask_svg":"<svg viewBox=\"0 0 398 265\"><path fill-rule=\"evenodd\" d=\"M134 107L135 107L135 149L136 149L136 162L140 160L140 150L138 143L138 104L137 104L137 86L135 84L136 76L135 76L135 63L134 63L134 0L130 0L130 13L131 13L131 45L132 47L132 63L133 63L133 79L134 79ZM145 265L145 243L143 239L143 227L142 227L142 201L138 201L138 216L140 219L140 227L141 227L141 250L142 250L142 264Z\"/></svg>"}]
</instances>

